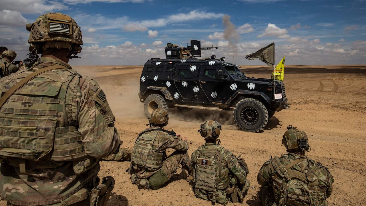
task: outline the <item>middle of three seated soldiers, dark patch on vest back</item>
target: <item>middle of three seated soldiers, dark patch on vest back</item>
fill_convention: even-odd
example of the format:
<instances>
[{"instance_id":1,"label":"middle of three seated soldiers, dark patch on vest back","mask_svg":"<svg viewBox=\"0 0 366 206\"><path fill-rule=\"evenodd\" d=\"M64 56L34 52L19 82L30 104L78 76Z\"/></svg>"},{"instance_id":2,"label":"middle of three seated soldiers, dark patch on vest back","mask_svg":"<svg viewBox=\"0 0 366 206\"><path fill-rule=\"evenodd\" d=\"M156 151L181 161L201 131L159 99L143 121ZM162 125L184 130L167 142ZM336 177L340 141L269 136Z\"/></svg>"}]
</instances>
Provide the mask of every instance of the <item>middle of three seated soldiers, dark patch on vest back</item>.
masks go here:
<instances>
[{"instance_id":1,"label":"middle of three seated soldiers, dark patch on vest back","mask_svg":"<svg viewBox=\"0 0 366 206\"><path fill-rule=\"evenodd\" d=\"M219 146L219 122L206 121L198 132L206 142L191 156L194 194L197 198L222 205L228 201L243 203L250 186L244 159L238 160L229 150Z\"/></svg>"}]
</instances>

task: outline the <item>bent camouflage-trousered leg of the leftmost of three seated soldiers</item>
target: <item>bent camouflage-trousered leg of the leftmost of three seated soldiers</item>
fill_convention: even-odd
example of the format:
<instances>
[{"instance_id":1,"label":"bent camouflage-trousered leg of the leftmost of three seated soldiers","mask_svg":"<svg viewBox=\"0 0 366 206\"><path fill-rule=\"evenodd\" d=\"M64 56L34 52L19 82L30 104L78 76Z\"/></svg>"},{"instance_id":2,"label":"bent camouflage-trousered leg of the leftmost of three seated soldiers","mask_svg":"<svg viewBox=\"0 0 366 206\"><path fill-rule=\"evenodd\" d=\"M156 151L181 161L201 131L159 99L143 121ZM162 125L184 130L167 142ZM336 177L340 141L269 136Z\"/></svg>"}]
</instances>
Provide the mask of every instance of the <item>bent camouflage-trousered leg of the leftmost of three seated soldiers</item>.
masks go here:
<instances>
[{"instance_id":1,"label":"bent camouflage-trousered leg of the leftmost of three seated soldiers","mask_svg":"<svg viewBox=\"0 0 366 206\"><path fill-rule=\"evenodd\" d=\"M171 155L169 155L169 157L164 160L161 169L149 178L151 189L157 190L167 183L178 169L178 166L182 164L183 160L185 161L184 167L190 167L190 160L188 161L187 159L189 159L187 151L183 152L176 150Z\"/></svg>"}]
</instances>

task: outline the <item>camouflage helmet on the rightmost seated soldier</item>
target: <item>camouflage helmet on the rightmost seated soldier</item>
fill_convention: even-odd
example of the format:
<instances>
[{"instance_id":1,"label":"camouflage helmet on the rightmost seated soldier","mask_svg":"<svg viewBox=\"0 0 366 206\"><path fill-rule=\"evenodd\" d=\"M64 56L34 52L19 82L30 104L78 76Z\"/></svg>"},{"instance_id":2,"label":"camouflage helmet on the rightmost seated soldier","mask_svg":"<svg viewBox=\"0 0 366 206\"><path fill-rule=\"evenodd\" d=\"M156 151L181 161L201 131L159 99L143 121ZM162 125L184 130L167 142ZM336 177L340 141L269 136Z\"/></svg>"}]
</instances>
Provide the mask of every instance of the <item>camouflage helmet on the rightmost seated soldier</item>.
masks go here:
<instances>
[{"instance_id":1,"label":"camouflage helmet on the rightmost seated soldier","mask_svg":"<svg viewBox=\"0 0 366 206\"><path fill-rule=\"evenodd\" d=\"M292 125L287 127L287 131L282 136L282 144L288 151L309 151L309 140L302 130L296 129Z\"/></svg>"}]
</instances>

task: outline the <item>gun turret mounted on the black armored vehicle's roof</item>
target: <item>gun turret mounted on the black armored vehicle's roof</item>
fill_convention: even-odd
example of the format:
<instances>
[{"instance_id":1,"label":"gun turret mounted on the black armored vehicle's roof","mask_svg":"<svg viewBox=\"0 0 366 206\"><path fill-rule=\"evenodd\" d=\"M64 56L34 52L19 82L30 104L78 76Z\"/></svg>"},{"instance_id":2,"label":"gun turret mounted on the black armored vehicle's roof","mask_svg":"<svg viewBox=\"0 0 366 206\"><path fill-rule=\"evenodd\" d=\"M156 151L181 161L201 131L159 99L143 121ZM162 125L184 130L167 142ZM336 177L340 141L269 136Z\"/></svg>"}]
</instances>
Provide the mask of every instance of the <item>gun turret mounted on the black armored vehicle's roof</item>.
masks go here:
<instances>
[{"instance_id":1,"label":"gun turret mounted on the black armored vehicle's roof","mask_svg":"<svg viewBox=\"0 0 366 206\"><path fill-rule=\"evenodd\" d=\"M188 47L179 47L176 44L168 43L165 47L165 57L167 59L183 59L201 56L201 50L217 49L217 47L201 47L201 42L198 40L191 40L191 45Z\"/></svg>"}]
</instances>

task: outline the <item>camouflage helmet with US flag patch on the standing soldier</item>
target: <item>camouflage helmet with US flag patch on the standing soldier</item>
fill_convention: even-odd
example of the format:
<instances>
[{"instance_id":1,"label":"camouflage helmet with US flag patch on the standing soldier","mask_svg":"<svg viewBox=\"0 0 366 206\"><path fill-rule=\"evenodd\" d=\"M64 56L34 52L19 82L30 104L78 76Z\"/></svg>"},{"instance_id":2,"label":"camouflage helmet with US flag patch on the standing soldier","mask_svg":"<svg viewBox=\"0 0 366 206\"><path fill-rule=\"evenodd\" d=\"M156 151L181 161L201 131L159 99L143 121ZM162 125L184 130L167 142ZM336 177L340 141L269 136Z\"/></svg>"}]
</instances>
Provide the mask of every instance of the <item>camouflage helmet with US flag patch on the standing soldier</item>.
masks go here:
<instances>
[{"instance_id":1,"label":"camouflage helmet with US flag patch on the standing soldier","mask_svg":"<svg viewBox=\"0 0 366 206\"><path fill-rule=\"evenodd\" d=\"M46 13L33 23L26 24L30 32L28 43L29 51L37 48L42 53L48 48L68 48L75 54L81 51L83 44L82 32L74 19L61 13Z\"/></svg>"}]
</instances>

